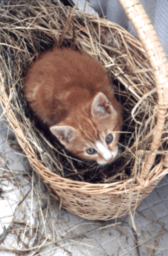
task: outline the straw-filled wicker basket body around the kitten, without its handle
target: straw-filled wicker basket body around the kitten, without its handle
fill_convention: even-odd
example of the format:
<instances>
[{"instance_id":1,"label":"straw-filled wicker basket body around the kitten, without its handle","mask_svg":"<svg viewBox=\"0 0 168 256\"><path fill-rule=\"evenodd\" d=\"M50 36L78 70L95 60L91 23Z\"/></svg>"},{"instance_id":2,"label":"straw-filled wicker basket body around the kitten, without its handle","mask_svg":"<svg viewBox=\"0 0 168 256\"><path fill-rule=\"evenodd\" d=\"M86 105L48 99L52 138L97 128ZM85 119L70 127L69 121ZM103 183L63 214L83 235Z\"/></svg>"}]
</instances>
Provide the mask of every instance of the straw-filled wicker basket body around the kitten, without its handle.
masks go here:
<instances>
[{"instance_id":1,"label":"straw-filled wicker basket body around the kitten, without its handle","mask_svg":"<svg viewBox=\"0 0 168 256\"><path fill-rule=\"evenodd\" d=\"M31 166L50 194L81 217L107 220L135 210L166 174L168 122L155 162L142 179L157 123L155 80L145 50L119 25L64 7L59 1L1 5L1 104ZM109 72L124 113L116 161L105 168L74 159L35 127L23 95L23 77L41 52L71 47ZM156 153L156 152L155 152Z\"/></svg>"}]
</instances>

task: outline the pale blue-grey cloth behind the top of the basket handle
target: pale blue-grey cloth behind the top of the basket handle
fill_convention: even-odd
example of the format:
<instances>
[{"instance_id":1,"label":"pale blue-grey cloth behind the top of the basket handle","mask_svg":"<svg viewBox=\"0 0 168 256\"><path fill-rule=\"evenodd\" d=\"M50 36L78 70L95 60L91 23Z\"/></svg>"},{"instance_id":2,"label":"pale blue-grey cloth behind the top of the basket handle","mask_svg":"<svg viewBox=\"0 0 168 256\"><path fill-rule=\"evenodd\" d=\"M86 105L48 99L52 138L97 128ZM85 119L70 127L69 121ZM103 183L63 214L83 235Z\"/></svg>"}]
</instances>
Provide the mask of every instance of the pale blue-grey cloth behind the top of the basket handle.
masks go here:
<instances>
[{"instance_id":1,"label":"pale blue-grey cloth behind the top of the basket handle","mask_svg":"<svg viewBox=\"0 0 168 256\"><path fill-rule=\"evenodd\" d=\"M151 19L161 45L168 55L168 0L140 0ZM89 0L95 11L137 37L136 31L117 0Z\"/></svg>"}]
</instances>

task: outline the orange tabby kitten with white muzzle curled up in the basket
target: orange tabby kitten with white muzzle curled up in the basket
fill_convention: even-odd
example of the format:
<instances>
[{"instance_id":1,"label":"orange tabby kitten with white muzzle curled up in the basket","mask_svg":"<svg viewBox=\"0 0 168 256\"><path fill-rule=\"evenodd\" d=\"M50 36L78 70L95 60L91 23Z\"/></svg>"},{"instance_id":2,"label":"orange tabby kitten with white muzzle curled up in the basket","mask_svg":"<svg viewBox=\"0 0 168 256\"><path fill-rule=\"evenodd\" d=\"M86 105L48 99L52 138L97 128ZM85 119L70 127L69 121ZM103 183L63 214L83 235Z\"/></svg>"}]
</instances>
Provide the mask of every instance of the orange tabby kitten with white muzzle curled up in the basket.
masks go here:
<instances>
[{"instance_id":1,"label":"orange tabby kitten with white muzzle curled up in the basket","mask_svg":"<svg viewBox=\"0 0 168 256\"><path fill-rule=\"evenodd\" d=\"M73 155L100 165L117 155L122 112L107 72L71 49L45 52L25 77L25 98Z\"/></svg>"}]
</instances>

